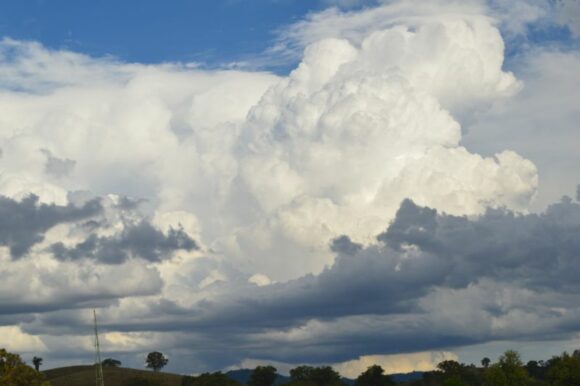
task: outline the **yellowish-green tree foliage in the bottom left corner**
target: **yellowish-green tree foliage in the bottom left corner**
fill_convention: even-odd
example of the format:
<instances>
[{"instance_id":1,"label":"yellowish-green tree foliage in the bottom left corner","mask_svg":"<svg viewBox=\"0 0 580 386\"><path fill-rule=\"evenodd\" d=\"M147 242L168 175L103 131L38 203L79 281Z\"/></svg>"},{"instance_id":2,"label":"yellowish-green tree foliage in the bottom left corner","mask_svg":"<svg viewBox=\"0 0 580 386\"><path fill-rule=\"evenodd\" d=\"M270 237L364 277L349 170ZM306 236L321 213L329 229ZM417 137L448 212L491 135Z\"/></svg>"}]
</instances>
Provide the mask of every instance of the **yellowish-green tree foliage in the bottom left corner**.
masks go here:
<instances>
[{"instance_id":1,"label":"yellowish-green tree foliage in the bottom left corner","mask_svg":"<svg viewBox=\"0 0 580 386\"><path fill-rule=\"evenodd\" d=\"M0 385L50 386L44 375L27 366L20 355L0 348Z\"/></svg>"}]
</instances>

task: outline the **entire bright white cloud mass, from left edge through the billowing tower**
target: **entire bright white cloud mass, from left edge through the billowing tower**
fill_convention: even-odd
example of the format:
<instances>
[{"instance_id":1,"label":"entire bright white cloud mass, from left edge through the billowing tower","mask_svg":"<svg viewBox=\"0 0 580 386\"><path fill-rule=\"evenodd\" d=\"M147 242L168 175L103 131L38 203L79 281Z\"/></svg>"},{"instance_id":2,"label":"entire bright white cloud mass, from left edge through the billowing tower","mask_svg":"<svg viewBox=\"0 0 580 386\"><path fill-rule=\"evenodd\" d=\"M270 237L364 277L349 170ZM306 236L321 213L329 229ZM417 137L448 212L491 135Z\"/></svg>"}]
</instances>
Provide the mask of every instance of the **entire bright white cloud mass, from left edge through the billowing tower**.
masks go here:
<instances>
[{"instance_id":1,"label":"entire bright white cloud mass, from left edge through the billowing tower","mask_svg":"<svg viewBox=\"0 0 580 386\"><path fill-rule=\"evenodd\" d=\"M5 40L16 59L2 71L32 91L10 84L2 97L0 192L61 205L79 189L145 198L156 218L275 280L330 264L340 234L372 240L404 198L456 214L525 210L534 165L460 144L454 114L520 85L502 70L492 21L457 7L399 10L382 29L312 43L286 78ZM63 61L71 76L47 70Z\"/></svg>"}]
</instances>

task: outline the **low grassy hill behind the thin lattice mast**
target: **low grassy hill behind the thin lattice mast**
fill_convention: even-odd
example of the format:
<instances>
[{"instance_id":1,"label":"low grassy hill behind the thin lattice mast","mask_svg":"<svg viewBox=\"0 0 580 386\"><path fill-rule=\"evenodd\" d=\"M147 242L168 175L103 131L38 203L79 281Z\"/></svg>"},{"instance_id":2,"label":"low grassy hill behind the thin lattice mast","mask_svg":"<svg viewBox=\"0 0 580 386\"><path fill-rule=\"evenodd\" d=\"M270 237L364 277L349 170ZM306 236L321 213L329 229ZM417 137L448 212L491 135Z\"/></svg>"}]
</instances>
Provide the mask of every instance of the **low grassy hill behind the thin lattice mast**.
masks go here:
<instances>
[{"instance_id":1,"label":"low grassy hill behind the thin lattice mast","mask_svg":"<svg viewBox=\"0 0 580 386\"><path fill-rule=\"evenodd\" d=\"M94 366L71 366L43 371L52 386L95 386ZM123 386L132 378L154 381L158 386L180 386L181 375L154 373L149 370L135 370L124 367L103 367L106 386Z\"/></svg>"}]
</instances>

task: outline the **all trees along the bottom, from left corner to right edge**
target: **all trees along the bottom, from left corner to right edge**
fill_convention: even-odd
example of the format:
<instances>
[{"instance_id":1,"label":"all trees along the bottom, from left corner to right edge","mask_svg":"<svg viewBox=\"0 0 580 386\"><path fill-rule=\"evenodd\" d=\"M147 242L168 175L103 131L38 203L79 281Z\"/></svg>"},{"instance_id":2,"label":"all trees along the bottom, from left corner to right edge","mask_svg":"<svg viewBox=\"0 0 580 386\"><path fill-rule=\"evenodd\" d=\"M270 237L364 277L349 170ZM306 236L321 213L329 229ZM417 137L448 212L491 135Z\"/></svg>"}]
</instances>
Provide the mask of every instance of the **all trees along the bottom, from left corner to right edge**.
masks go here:
<instances>
[{"instance_id":1,"label":"all trees along the bottom, from left corner to right edge","mask_svg":"<svg viewBox=\"0 0 580 386\"><path fill-rule=\"evenodd\" d=\"M161 370L168 363L164 354L154 351L147 355L146 366ZM50 386L39 371L43 359L34 357L34 368L18 354L0 348L0 386ZM107 358L103 366L119 367L121 362ZM258 366L252 370L247 386L274 386L278 379L273 366ZM341 377L331 366L298 366L290 370L286 383L277 386L352 386L353 381ZM222 372L183 376L181 386L240 386ZM524 364L514 350L504 352L495 363L485 357L481 367L445 360L434 371L424 372L421 379L396 383L379 365L369 366L355 380L354 386L580 386L580 350L564 352L548 360L531 360ZM157 386L151 380L129 380L124 386Z\"/></svg>"}]
</instances>

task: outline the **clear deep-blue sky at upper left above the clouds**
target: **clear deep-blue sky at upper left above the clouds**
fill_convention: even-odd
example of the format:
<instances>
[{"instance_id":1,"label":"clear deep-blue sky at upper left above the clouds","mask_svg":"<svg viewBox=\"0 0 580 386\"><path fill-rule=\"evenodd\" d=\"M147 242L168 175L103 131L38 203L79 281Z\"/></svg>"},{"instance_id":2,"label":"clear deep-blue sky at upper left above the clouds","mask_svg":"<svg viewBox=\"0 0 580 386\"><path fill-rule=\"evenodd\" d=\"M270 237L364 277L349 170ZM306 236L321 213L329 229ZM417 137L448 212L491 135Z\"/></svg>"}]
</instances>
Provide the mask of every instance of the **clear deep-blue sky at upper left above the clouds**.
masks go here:
<instances>
[{"instance_id":1,"label":"clear deep-blue sky at upper left above the clouds","mask_svg":"<svg viewBox=\"0 0 580 386\"><path fill-rule=\"evenodd\" d=\"M264 51L323 5L291 0L23 0L0 3L0 35L139 63L216 65Z\"/></svg>"}]
</instances>

